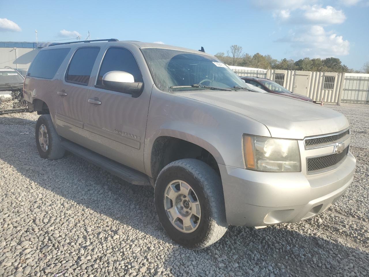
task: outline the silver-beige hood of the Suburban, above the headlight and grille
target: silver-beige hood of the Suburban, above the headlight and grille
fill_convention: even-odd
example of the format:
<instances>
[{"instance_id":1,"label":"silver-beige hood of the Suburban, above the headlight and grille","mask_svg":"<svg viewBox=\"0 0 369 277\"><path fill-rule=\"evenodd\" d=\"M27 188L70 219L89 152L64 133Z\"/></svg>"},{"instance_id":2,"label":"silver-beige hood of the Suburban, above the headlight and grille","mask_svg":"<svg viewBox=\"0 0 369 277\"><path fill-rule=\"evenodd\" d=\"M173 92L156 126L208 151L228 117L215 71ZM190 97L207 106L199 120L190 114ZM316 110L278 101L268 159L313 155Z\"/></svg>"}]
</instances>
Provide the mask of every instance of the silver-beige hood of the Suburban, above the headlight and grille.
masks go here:
<instances>
[{"instance_id":1,"label":"silver-beige hood of the Suburban, above the headlight and grille","mask_svg":"<svg viewBox=\"0 0 369 277\"><path fill-rule=\"evenodd\" d=\"M335 133L349 126L341 113L272 93L204 90L176 95L243 114L264 124L272 137L277 138L303 139Z\"/></svg>"}]
</instances>

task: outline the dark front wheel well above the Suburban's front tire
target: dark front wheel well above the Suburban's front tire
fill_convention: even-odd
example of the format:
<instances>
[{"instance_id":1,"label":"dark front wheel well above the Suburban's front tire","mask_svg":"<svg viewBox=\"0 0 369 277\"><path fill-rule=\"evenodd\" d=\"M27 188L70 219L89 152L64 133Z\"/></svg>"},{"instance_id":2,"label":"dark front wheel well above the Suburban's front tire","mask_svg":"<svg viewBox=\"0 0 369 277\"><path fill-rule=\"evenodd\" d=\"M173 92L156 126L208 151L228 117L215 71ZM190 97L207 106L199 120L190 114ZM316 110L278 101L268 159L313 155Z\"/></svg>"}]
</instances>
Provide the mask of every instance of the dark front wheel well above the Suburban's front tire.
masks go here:
<instances>
[{"instance_id":1,"label":"dark front wheel well above the Suburban's front tire","mask_svg":"<svg viewBox=\"0 0 369 277\"><path fill-rule=\"evenodd\" d=\"M154 180L167 164L186 158L203 161L220 176L217 161L206 149L175 137L156 138L151 152L151 173Z\"/></svg>"}]
</instances>

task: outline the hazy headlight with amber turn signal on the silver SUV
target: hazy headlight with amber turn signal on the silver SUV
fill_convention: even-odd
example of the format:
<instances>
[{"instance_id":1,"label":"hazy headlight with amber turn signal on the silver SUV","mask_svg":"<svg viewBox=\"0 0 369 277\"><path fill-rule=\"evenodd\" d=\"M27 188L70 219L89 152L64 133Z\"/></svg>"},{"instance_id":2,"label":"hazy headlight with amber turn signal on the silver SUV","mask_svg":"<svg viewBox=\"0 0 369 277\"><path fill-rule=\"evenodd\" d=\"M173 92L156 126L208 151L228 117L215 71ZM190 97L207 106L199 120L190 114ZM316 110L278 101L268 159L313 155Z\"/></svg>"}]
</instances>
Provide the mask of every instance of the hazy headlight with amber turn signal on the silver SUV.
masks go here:
<instances>
[{"instance_id":1,"label":"hazy headlight with amber turn signal on the silver SUV","mask_svg":"<svg viewBox=\"0 0 369 277\"><path fill-rule=\"evenodd\" d=\"M297 140L242 136L245 167L269 172L301 171Z\"/></svg>"}]
</instances>

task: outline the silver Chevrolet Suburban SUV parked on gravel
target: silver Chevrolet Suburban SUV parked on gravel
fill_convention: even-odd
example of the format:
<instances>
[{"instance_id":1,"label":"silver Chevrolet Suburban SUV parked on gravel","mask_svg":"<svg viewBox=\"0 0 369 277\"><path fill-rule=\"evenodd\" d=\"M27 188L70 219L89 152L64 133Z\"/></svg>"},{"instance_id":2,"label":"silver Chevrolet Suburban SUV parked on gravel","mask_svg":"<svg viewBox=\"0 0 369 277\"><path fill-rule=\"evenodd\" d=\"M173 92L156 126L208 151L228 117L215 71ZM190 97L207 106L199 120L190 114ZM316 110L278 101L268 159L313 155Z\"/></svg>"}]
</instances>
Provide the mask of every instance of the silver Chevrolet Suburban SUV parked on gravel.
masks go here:
<instances>
[{"instance_id":1,"label":"silver Chevrolet Suburban SUV parked on gravel","mask_svg":"<svg viewBox=\"0 0 369 277\"><path fill-rule=\"evenodd\" d=\"M168 235L203 248L228 225L317 215L353 179L342 114L249 88L203 51L111 39L43 48L24 96L41 157L151 185Z\"/></svg>"}]
</instances>

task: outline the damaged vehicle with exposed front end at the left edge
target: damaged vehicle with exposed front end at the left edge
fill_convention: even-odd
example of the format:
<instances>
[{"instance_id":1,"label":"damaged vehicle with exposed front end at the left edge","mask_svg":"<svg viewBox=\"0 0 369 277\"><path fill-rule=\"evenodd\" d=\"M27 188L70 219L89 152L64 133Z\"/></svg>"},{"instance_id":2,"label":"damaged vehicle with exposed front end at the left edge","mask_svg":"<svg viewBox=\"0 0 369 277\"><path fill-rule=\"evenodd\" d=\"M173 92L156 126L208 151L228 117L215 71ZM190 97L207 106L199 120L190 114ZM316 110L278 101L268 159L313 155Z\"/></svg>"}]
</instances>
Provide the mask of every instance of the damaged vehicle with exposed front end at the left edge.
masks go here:
<instances>
[{"instance_id":1,"label":"damaged vehicle with exposed front end at the left edge","mask_svg":"<svg viewBox=\"0 0 369 277\"><path fill-rule=\"evenodd\" d=\"M23 76L15 69L0 68L0 115L31 112L23 97Z\"/></svg>"}]
</instances>

